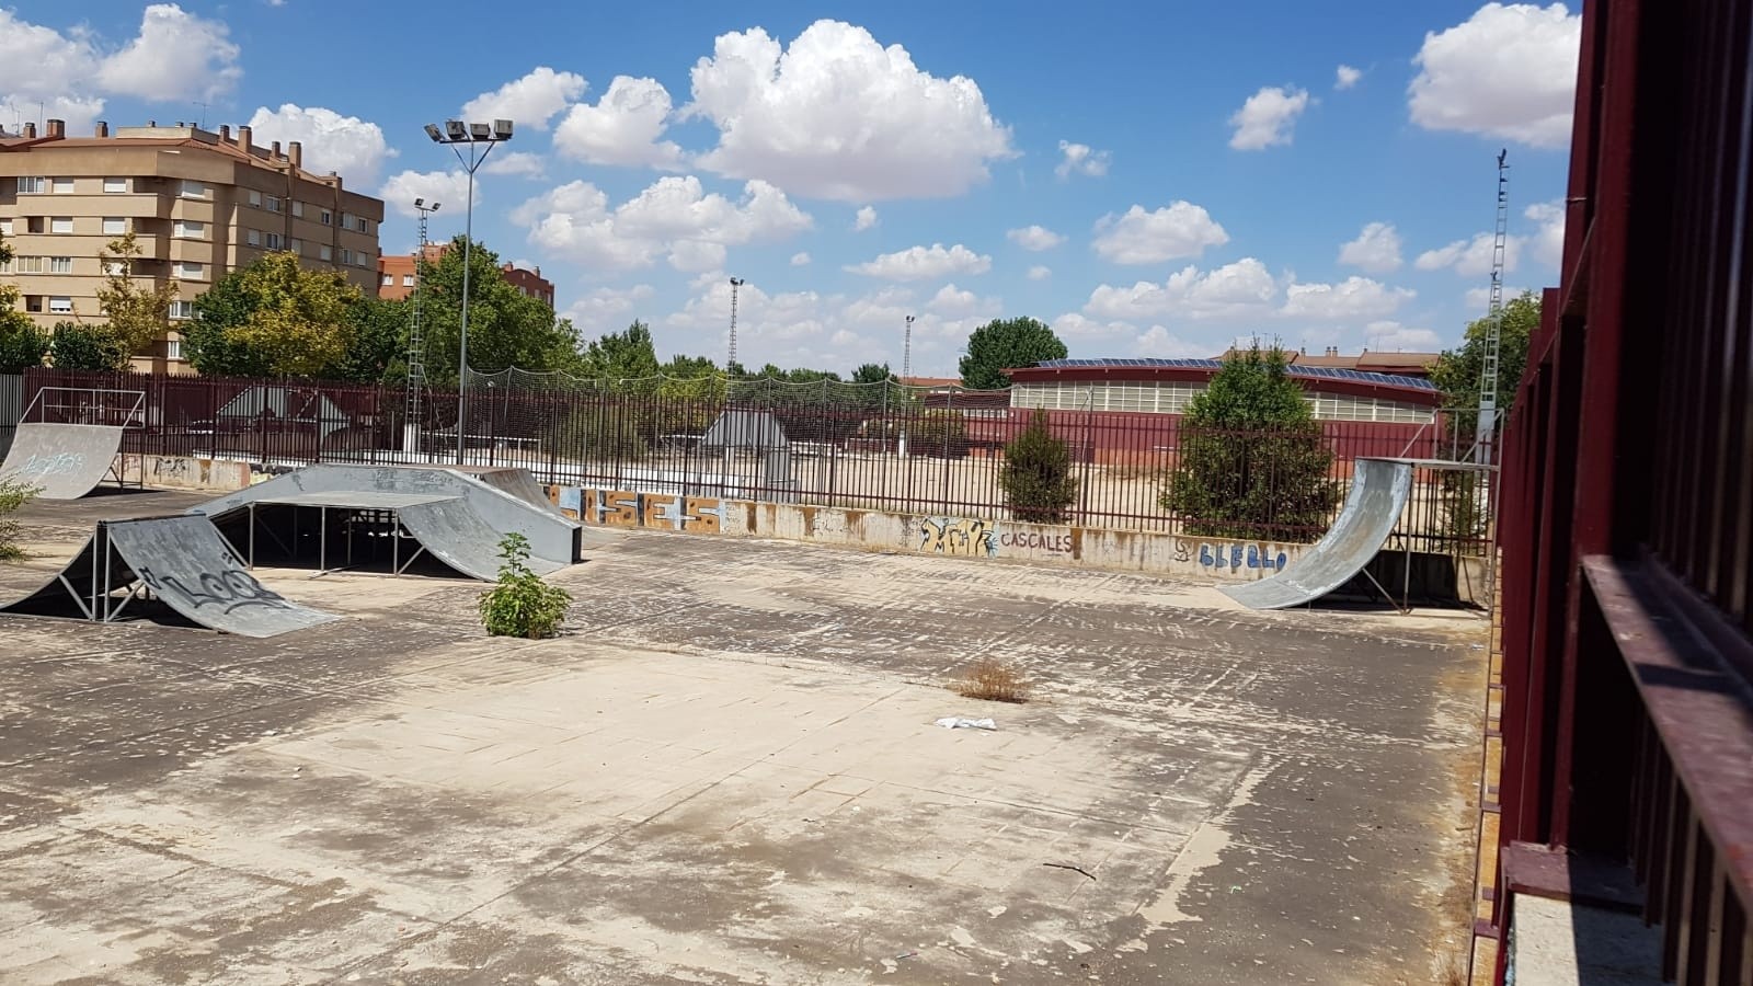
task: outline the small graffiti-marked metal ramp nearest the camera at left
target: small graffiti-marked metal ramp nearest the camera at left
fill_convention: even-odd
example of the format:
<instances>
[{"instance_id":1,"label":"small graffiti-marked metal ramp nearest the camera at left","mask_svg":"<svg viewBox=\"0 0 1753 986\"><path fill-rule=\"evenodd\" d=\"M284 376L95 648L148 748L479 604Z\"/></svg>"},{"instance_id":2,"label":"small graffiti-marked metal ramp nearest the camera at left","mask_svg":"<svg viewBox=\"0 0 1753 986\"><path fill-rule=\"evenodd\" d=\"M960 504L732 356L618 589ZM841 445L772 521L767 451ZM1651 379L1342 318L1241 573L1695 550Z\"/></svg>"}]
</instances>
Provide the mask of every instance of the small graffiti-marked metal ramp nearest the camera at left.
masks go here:
<instances>
[{"instance_id":1,"label":"small graffiti-marked metal ramp nearest the camera at left","mask_svg":"<svg viewBox=\"0 0 1753 986\"><path fill-rule=\"evenodd\" d=\"M277 637L340 619L258 582L212 521L188 514L98 521L54 579L0 612L110 623L147 598L240 637Z\"/></svg>"}]
</instances>

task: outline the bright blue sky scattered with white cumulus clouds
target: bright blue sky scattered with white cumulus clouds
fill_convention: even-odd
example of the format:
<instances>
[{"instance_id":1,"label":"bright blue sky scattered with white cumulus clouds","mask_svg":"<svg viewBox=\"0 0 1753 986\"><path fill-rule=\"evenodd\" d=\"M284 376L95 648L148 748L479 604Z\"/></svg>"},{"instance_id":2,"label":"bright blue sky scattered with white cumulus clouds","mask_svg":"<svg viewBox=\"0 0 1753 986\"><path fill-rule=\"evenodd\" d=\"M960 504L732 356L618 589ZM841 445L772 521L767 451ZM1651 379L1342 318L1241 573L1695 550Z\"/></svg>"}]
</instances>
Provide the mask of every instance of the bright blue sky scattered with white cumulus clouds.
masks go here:
<instances>
[{"instance_id":1,"label":"bright blue sky scattered with white cumulus clouds","mask_svg":"<svg viewBox=\"0 0 1753 986\"><path fill-rule=\"evenodd\" d=\"M1506 282L1558 277L1564 5L72 7L0 5L0 126L252 123L382 195L396 253L415 195L435 239L463 225L421 126L510 116L477 237L661 354L722 361L731 275L752 365L899 370L908 314L922 375L1022 314L1073 356L1450 346L1485 311L1501 147Z\"/></svg>"}]
</instances>

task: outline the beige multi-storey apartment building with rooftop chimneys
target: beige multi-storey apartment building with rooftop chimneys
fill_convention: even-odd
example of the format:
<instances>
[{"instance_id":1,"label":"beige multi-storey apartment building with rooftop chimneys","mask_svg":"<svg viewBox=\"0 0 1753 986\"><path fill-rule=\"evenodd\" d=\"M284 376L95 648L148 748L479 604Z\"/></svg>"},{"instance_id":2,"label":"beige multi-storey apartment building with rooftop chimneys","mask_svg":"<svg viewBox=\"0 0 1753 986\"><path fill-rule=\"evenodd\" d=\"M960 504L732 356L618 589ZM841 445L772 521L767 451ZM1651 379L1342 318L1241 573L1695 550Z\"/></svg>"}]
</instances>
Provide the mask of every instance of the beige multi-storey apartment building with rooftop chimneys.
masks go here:
<instances>
[{"instance_id":1,"label":"beige multi-storey apartment building with rooftop chimneys","mask_svg":"<svg viewBox=\"0 0 1753 986\"><path fill-rule=\"evenodd\" d=\"M379 225L384 202L347 191L342 175L303 167L298 142L258 147L249 126L119 126L98 123L70 137L47 121L0 139L0 233L14 260L0 277L18 284L19 305L47 328L58 321L102 321L103 247L135 233L142 282L179 286L172 323L235 267L268 251L293 251L312 268L337 270L365 293L377 291ZM182 337L170 332L137 368L186 372Z\"/></svg>"}]
</instances>

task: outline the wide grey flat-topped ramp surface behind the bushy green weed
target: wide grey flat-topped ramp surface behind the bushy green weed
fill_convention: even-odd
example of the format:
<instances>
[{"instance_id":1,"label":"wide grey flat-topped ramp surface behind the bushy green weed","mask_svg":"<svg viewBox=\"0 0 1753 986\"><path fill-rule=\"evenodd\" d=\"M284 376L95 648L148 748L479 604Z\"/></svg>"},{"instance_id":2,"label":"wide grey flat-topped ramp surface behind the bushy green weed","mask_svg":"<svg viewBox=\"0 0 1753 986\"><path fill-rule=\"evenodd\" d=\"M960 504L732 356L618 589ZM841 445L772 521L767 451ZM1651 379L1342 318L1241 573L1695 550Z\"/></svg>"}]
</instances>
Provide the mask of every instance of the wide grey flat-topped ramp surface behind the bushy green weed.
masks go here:
<instances>
[{"instance_id":1,"label":"wide grey flat-topped ramp surface behind the bushy green weed","mask_svg":"<svg viewBox=\"0 0 1753 986\"><path fill-rule=\"evenodd\" d=\"M535 489L535 481L528 482L528 489ZM302 493L333 495L337 504L344 504L349 493L426 495L461 500L463 507L431 509L424 516L419 509L412 511L415 519L408 525L408 533L421 537L424 544L426 539L414 530L419 525L458 558L493 558L489 574L482 577L493 577L491 572L498 570L498 544L507 533L521 533L529 539L531 561L540 560L554 568L578 561L587 537L582 525L559 516L545 505L545 500L538 505L475 475L444 467L309 465L202 504L191 512L217 519L247 509L251 502L268 504ZM403 519L407 516L408 511L403 511ZM454 526L444 528L445 523L454 523ZM596 544L612 540L610 535L600 532L589 532L589 539ZM445 561L451 560L445 558ZM466 574L482 570L473 561L468 568L454 563L452 567Z\"/></svg>"}]
</instances>

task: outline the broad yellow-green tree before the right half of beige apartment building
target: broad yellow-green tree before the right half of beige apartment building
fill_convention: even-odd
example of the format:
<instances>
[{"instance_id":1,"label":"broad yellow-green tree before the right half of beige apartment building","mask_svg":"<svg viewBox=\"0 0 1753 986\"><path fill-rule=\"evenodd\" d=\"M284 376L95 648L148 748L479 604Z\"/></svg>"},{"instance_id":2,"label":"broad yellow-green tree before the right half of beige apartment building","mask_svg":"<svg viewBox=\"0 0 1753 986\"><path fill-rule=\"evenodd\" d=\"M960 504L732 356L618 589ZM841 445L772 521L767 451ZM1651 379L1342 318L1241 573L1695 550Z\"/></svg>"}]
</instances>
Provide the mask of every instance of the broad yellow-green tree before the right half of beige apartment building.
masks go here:
<instances>
[{"instance_id":1,"label":"broad yellow-green tree before the right half of beige apartment building","mask_svg":"<svg viewBox=\"0 0 1753 986\"><path fill-rule=\"evenodd\" d=\"M270 253L195 300L184 351L202 374L323 377L358 339L363 293L335 270L307 270Z\"/></svg>"}]
</instances>

